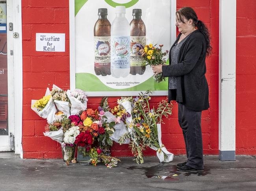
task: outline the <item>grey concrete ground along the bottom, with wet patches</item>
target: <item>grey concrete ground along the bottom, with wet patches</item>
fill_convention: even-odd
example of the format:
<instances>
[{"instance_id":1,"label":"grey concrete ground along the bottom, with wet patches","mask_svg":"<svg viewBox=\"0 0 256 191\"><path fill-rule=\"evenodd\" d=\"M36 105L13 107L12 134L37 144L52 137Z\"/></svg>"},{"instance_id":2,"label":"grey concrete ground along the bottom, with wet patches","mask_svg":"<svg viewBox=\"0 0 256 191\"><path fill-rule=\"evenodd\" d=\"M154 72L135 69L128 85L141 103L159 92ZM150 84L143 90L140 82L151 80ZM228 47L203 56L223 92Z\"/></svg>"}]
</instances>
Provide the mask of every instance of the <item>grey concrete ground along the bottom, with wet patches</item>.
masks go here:
<instances>
[{"instance_id":1,"label":"grey concrete ground along the bottom, with wet patches","mask_svg":"<svg viewBox=\"0 0 256 191\"><path fill-rule=\"evenodd\" d=\"M146 157L141 165L120 159L118 167L108 169L0 153L0 191L256 191L255 156L237 156L235 162L204 156L205 169L190 173L176 171L185 156L170 163Z\"/></svg>"}]
</instances>

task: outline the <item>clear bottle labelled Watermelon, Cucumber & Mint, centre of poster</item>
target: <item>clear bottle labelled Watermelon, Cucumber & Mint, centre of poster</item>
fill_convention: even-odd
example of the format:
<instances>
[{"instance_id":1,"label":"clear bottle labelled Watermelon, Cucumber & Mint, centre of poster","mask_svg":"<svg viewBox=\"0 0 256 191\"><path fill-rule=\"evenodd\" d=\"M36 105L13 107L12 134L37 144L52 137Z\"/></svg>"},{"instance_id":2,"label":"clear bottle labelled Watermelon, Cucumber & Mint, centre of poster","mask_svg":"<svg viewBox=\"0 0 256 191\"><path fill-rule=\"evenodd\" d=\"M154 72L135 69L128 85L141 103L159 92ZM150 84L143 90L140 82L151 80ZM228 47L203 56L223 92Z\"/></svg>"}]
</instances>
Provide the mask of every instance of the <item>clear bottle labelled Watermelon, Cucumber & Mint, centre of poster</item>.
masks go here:
<instances>
[{"instance_id":1,"label":"clear bottle labelled Watermelon, Cucumber & Mint, centre of poster","mask_svg":"<svg viewBox=\"0 0 256 191\"><path fill-rule=\"evenodd\" d=\"M116 6L111 25L111 75L115 78L130 73L130 24L125 13L124 6Z\"/></svg>"}]
</instances>

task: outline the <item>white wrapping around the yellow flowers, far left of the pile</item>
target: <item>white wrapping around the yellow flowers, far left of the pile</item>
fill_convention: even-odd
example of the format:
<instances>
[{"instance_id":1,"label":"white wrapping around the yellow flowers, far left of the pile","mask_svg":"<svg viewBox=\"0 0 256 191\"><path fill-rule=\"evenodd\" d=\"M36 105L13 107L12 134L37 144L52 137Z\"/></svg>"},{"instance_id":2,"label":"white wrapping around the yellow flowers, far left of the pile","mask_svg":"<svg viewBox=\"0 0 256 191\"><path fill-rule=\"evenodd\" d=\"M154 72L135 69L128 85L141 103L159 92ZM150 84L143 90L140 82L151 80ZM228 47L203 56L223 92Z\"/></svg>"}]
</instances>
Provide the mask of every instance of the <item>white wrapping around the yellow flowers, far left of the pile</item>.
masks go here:
<instances>
[{"instance_id":1,"label":"white wrapping around the yellow flowers, far left of the pile","mask_svg":"<svg viewBox=\"0 0 256 191\"><path fill-rule=\"evenodd\" d=\"M45 96L50 95L50 89L47 87L46 92L45 92ZM33 111L35 111L35 113L37 115L39 115L40 117L46 119L47 118L47 122L48 123L52 123L55 120L55 113L57 111L54 102L52 100L52 97L50 97L50 100L48 101L48 103L46 104L45 108L42 109L41 111L38 111L36 107L33 107L33 104L36 102L37 100L31 100L31 109Z\"/></svg>"}]
</instances>

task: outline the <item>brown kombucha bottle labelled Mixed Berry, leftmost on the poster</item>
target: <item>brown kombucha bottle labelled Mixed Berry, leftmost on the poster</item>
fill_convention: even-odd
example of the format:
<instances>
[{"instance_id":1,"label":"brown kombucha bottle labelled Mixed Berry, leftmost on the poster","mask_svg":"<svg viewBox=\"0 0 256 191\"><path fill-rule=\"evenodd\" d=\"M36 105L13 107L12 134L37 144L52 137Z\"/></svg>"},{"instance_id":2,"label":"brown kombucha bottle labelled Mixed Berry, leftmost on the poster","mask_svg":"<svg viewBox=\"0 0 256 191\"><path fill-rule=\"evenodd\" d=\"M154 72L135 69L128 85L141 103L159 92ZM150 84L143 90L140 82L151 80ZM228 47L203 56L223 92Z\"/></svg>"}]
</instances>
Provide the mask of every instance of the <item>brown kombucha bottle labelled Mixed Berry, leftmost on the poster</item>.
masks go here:
<instances>
[{"instance_id":1,"label":"brown kombucha bottle labelled Mixed Berry, leftmost on the poster","mask_svg":"<svg viewBox=\"0 0 256 191\"><path fill-rule=\"evenodd\" d=\"M94 71L96 75L111 75L110 72L110 29L108 9L98 9L98 20L94 26Z\"/></svg>"}]
</instances>

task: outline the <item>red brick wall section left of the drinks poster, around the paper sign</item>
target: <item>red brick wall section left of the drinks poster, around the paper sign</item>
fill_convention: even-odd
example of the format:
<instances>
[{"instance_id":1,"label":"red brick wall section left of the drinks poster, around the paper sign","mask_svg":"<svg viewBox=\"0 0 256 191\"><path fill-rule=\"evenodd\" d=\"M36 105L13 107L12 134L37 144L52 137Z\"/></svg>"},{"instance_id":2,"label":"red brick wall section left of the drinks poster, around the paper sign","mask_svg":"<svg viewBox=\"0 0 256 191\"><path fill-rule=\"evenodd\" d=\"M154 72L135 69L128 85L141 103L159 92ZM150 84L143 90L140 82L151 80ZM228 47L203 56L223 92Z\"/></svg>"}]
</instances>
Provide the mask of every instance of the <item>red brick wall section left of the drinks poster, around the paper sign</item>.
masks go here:
<instances>
[{"instance_id":1,"label":"red brick wall section left of the drinks poster, around the paper sign","mask_svg":"<svg viewBox=\"0 0 256 191\"><path fill-rule=\"evenodd\" d=\"M65 33L65 52L35 51L36 33ZM60 145L43 135L46 120L30 109L46 87L69 89L69 0L22 0L24 158L60 158Z\"/></svg>"}]
</instances>

